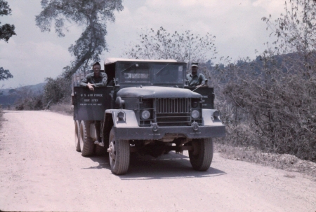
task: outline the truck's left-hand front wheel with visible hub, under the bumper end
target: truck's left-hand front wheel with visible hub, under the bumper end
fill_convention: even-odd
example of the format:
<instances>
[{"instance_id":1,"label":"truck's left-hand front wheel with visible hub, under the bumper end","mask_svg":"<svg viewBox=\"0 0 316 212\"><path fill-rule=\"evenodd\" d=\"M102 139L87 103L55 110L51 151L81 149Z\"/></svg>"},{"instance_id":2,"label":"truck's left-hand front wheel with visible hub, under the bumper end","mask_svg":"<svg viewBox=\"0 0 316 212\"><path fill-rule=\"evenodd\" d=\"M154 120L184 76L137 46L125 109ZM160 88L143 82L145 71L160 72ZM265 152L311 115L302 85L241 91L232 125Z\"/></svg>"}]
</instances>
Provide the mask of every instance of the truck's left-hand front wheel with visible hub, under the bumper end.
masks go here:
<instances>
[{"instance_id":1,"label":"truck's left-hand front wheel with visible hub, under the bumper end","mask_svg":"<svg viewBox=\"0 0 316 212\"><path fill-rule=\"evenodd\" d=\"M129 169L129 141L116 139L114 127L109 136L109 152L111 171L113 174L126 174Z\"/></svg>"}]
</instances>

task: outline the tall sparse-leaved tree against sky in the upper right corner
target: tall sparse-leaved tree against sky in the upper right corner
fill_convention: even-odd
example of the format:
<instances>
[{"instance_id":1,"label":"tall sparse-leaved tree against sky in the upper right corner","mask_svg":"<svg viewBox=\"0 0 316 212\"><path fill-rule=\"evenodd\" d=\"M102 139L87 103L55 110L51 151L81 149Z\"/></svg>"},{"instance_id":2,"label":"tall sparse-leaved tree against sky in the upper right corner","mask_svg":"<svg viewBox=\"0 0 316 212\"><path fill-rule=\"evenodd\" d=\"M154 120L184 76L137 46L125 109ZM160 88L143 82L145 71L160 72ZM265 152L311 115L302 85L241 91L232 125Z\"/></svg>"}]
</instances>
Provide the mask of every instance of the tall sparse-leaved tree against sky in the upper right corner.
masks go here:
<instances>
[{"instance_id":1,"label":"tall sparse-leaved tree against sky in the upper right corner","mask_svg":"<svg viewBox=\"0 0 316 212\"><path fill-rule=\"evenodd\" d=\"M267 29L277 37L275 50L277 54L298 52L303 60L296 60L301 64L305 75L312 77L312 69L315 66L316 48L316 5L314 0L289 0L284 3L284 14L281 14L274 22L270 17L262 20L268 24Z\"/></svg>"}]
</instances>

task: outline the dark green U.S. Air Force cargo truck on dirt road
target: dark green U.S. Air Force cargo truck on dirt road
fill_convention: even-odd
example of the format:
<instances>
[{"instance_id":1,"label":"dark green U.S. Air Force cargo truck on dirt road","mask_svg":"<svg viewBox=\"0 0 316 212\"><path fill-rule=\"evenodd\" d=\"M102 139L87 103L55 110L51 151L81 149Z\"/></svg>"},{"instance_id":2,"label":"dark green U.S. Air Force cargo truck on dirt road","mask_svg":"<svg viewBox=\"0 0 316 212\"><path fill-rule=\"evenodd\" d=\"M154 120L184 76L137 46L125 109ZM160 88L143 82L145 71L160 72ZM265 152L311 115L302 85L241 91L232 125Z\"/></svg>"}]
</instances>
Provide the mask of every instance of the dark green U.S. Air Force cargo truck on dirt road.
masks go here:
<instances>
[{"instance_id":1,"label":"dark green U.S. Air Force cargo truck on dirt road","mask_svg":"<svg viewBox=\"0 0 316 212\"><path fill-rule=\"evenodd\" d=\"M188 151L197 171L209 169L215 137L225 136L213 87L188 87L187 64L173 59L105 59L107 87L80 87L73 76L75 147L83 156L107 152L113 174L126 174L131 153L158 157ZM94 144L102 122L104 147Z\"/></svg>"}]
</instances>

